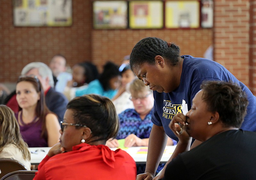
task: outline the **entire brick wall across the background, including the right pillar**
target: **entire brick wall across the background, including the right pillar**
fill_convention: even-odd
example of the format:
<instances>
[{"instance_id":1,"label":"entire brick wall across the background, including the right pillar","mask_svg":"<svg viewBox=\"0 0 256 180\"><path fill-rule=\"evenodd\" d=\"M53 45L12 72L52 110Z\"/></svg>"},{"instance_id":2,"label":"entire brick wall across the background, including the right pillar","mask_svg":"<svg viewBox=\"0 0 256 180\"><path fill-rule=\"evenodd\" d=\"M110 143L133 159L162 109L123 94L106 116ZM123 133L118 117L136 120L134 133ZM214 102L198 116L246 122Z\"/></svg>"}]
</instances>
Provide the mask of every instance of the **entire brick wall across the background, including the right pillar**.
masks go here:
<instances>
[{"instance_id":1,"label":"entire brick wall across the background, including the right pillar","mask_svg":"<svg viewBox=\"0 0 256 180\"><path fill-rule=\"evenodd\" d=\"M12 1L0 3L0 82L15 82L26 64L49 64L58 53L67 57L71 67L83 60L99 69L109 59L120 64L140 39L156 36L179 45L181 54L195 57L203 57L213 42L214 60L256 93L254 0L214 0L212 29L146 30L94 30L91 0L73 0L71 27L14 27Z\"/></svg>"}]
</instances>

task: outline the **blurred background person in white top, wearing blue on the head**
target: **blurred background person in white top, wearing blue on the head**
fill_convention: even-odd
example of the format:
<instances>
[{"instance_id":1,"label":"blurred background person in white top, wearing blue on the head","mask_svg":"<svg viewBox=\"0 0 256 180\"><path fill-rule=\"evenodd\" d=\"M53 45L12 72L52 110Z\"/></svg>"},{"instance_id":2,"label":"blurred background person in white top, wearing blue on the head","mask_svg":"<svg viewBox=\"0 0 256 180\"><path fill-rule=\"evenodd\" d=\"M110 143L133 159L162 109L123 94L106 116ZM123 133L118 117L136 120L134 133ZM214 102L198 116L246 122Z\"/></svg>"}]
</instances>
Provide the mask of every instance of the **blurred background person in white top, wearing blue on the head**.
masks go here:
<instances>
[{"instance_id":1,"label":"blurred background person in white top, wearing blue on the head","mask_svg":"<svg viewBox=\"0 0 256 180\"><path fill-rule=\"evenodd\" d=\"M128 92L127 85L136 77L132 72L130 65L122 64L119 67L119 71L122 76L121 86L118 88L116 96L112 99L112 102L116 107L117 114L123 112L125 109L134 108L132 101L129 99L131 97L131 93Z\"/></svg>"}]
</instances>

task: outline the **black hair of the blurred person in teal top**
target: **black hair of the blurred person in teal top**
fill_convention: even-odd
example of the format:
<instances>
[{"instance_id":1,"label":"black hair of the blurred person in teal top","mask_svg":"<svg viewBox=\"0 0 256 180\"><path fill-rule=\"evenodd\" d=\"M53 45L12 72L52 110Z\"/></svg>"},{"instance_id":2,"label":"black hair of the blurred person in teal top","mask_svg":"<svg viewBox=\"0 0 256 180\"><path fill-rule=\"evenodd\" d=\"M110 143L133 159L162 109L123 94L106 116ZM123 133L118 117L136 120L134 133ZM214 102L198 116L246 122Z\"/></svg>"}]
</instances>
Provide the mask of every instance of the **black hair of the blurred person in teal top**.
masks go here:
<instances>
[{"instance_id":1,"label":"black hair of the blurred person in teal top","mask_svg":"<svg viewBox=\"0 0 256 180\"><path fill-rule=\"evenodd\" d=\"M104 67L103 67L103 72L100 74L99 81L100 84L102 85L104 90L109 90L110 89L110 84L109 81L110 79L120 76L119 72L119 67L113 63L108 61Z\"/></svg>"}]
</instances>

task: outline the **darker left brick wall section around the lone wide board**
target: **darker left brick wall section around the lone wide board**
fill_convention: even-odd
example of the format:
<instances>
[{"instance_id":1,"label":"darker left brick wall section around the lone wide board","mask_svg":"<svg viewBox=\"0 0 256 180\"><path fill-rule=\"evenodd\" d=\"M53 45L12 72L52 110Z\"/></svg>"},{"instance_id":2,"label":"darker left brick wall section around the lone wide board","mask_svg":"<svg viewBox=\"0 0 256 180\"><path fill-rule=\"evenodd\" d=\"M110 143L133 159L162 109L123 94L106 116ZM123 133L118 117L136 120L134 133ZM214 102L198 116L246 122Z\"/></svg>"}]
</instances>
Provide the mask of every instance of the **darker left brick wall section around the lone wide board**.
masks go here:
<instances>
[{"instance_id":1,"label":"darker left brick wall section around the lone wide board","mask_svg":"<svg viewBox=\"0 0 256 180\"><path fill-rule=\"evenodd\" d=\"M92 4L73 0L71 27L14 27L12 1L0 2L0 82L16 82L22 68L33 61L49 64L63 54L68 64L91 59Z\"/></svg>"}]
</instances>

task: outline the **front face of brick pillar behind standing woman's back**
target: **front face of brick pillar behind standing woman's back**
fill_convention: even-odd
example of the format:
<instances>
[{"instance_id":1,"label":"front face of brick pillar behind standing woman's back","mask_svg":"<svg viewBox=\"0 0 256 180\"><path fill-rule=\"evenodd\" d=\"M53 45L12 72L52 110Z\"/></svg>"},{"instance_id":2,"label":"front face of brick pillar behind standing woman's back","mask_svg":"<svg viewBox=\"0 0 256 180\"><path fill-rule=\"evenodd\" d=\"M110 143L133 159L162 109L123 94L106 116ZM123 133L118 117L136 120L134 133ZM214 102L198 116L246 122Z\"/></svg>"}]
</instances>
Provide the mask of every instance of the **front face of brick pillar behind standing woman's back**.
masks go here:
<instances>
[{"instance_id":1,"label":"front face of brick pillar behind standing woman's back","mask_svg":"<svg viewBox=\"0 0 256 180\"><path fill-rule=\"evenodd\" d=\"M214 1L214 59L249 85L249 0Z\"/></svg>"}]
</instances>

